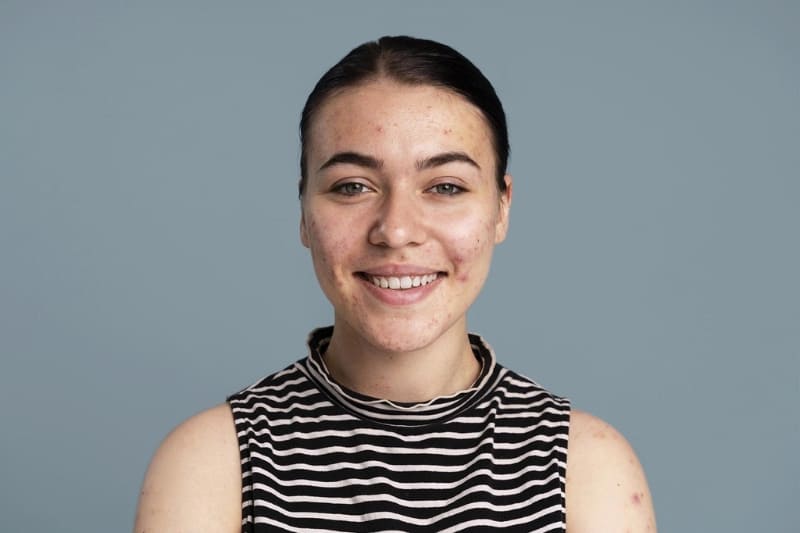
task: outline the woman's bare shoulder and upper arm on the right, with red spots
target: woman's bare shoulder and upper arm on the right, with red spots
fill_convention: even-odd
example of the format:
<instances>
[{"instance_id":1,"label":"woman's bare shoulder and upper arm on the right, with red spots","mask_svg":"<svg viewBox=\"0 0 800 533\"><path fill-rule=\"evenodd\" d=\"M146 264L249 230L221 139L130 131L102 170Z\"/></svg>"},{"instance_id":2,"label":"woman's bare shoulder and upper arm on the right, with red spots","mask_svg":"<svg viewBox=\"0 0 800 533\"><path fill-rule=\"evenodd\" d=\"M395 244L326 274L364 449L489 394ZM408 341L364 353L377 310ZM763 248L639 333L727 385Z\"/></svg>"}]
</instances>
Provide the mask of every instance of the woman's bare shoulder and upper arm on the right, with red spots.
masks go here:
<instances>
[{"instance_id":1,"label":"woman's bare shoulder and upper arm on the right, with red spots","mask_svg":"<svg viewBox=\"0 0 800 533\"><path fill-rule=\"evenodd\" d=\"M566 492L568 533L656 531L650 490L633 448L583 411L571 415Z\"/></svg>"}]
</instances>

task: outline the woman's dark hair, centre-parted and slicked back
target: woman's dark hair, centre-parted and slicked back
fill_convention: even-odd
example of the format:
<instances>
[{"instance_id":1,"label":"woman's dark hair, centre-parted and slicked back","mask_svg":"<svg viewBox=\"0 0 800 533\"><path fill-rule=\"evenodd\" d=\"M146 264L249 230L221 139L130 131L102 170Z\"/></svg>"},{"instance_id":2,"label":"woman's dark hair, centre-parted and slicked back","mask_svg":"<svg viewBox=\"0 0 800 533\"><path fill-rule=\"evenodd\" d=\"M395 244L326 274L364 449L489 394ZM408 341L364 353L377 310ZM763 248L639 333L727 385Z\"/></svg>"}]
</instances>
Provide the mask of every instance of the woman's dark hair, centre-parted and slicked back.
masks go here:
<instances>
[{"instance_id":1,"label":"woman's dark hair, centre-parted and slicked back","mask_svg":"<svg viewBox=\"0 0 800 533\"><path fill-rule=\"evenodd\" d=\"M510 146L503 105L486 76L447 45L428 39L397 36L357 46L319 79L308 95L300 118L300 183L302 198L308 173L310 128L325 101L349 87L388 78L409 85L432 85L452 91L483 114L491 132L498 190L506 190Z\"/></svg>"}]
</instances>

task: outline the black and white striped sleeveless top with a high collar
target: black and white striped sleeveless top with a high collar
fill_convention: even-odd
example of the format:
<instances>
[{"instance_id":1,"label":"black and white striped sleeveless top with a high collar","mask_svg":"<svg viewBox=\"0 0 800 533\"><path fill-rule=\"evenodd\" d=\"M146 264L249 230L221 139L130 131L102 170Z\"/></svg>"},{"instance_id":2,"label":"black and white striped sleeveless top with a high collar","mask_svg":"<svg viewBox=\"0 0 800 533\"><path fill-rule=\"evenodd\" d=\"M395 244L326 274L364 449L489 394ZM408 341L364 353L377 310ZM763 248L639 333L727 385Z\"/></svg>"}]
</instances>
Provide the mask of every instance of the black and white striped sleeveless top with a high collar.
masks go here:
<instances>
[{"instance_id":1,"label":"black and white striped sleeveless top with a high collar","mask_svg":"<svg viewBox=\"0 0 800 533\"><path fill-rule=\"evenodd\" d=\"M228 398L242 461L242 532L565 531L570 405L496 363L425 403L364 396L309 355Z\"/></svg>"}]
</instances>

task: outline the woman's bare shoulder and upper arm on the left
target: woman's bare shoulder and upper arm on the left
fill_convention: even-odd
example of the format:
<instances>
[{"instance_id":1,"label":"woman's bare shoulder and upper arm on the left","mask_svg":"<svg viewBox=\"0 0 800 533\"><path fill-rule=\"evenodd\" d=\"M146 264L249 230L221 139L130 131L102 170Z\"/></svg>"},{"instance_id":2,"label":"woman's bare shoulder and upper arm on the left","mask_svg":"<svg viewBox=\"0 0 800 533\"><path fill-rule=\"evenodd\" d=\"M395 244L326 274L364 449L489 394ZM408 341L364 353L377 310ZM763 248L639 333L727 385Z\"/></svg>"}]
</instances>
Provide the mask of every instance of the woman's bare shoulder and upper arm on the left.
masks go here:
<instances>
[{"instance_id":1,"label":"woman's bare shoulder and upper arm on the left","mask_svg":"<svg viewBox=\"0 0 800 533\"><path fill-rule=\"evenodd\" d=\"M227 404L203 411L161 443L145 475L135 533L241 528L241 466Z\"/></svg>"}]
</instances>

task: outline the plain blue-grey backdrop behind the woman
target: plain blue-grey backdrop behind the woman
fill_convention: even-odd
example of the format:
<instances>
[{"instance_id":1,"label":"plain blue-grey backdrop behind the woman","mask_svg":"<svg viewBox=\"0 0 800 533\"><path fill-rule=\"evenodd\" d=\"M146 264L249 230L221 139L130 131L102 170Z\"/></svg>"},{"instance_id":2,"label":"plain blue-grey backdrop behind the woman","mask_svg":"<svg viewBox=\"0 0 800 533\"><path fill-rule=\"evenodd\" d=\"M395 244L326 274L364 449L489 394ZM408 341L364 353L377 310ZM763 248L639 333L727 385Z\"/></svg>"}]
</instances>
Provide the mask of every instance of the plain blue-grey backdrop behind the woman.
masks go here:
<instances>
[{"instance_id":1,"label":"plain blue-grey backdrop behind the woman","mask_svg":"<svg viewBox=\"0 0 800 533\"><path fill-rule=\"evenodd\" d=\"M406 33L510 119L472 328L629 438L661 531L797 531L799 28L777 1L0 1L0 530L128 530L170 428L304 354L331 313L299 111Z\"/></svg>"}]
</instances>

